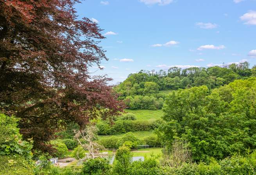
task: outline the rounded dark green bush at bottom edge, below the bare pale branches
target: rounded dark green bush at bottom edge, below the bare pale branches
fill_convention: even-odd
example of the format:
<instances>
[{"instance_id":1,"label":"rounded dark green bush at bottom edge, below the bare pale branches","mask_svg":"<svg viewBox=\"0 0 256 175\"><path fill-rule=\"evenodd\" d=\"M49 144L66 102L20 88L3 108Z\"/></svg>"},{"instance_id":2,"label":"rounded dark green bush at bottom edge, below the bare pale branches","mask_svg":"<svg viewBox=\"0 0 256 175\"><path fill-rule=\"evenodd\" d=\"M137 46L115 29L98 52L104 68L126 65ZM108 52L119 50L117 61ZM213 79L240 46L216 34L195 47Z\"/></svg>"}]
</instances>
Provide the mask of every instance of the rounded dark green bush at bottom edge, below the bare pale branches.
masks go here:
<instances>
[{"instance_id":1,"label":"rounded dark green bush at bottom edge, below the bare pale branches","mask_svg":"<svg viewBox=\"0 0 256 175\"><path fill-rule=\"evenodd\" d=\"M85 175L106 175L109 169L109 162L104 158L88 159L82 166Z\"/></svg>"}]
</instances>

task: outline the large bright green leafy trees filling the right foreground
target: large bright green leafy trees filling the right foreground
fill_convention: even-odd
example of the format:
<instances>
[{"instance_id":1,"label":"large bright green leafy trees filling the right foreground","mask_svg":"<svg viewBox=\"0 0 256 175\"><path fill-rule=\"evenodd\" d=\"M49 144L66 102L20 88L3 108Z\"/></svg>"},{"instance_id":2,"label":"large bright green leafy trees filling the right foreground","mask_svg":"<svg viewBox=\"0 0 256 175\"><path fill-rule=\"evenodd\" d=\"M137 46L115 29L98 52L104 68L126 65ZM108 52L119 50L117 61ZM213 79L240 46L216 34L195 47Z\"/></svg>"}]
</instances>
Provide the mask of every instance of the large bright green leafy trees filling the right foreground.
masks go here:
<instances>
[{"instance_id":1,"label":"large bright green leafy trees filling the right foreground","mask_svg":"<svg viewBox=\"0 0 256 175\"><path fill-rule=\"evenodd\" d=\"M171 147L185 140L195 161L224 159L256 148L256 78L234 82L209 91L193 87L168 95L160 127ZM161 135L161 134L160 134Z\"/></svg>"}]
</instances>

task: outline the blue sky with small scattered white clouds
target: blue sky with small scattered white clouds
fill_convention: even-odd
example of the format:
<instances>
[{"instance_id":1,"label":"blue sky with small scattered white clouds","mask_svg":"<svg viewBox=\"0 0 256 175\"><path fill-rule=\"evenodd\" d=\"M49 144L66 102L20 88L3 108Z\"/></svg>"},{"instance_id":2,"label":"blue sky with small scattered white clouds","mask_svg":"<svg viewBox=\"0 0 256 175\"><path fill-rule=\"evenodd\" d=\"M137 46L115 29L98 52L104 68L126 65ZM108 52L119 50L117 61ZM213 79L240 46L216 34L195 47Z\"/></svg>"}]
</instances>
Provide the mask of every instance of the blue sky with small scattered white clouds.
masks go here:
<instances>
[{"instance_id":1,"label":"blue sky with small scattered white clouds","mask_svg":"<svg viewBox=\"0 0 256 175\"><path fill-rule=\"evenodd\" d=\"M99 46L109 61L90 71L111 84L140 70L256 65L256 0L85 0L75 8L104 29Z\"/></svg>"}]
</instances>

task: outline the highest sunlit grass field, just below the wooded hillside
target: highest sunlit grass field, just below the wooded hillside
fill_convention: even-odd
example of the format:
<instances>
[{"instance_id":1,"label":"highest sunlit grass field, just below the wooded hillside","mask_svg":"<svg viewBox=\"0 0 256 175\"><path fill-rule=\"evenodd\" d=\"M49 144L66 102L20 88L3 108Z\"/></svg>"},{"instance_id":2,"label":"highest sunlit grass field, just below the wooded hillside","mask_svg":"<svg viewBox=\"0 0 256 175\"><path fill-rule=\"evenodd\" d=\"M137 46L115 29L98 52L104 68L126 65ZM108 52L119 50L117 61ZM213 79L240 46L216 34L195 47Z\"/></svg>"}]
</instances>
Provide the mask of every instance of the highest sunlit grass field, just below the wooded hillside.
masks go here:
<instances>
[{"instance_id":1,"label":"highest sunlit grass field, just below the wooded hillside","mask_svg":"<svg viewBox=\"0 0 256 175\"><path fill-rule=\"evenodd\" d=\"M162 110L131 110L131 109L125 109L125 112L132 113L136 116L137 120L155 120L159 119L163 116Z\"/></svg>"}]
</instances>

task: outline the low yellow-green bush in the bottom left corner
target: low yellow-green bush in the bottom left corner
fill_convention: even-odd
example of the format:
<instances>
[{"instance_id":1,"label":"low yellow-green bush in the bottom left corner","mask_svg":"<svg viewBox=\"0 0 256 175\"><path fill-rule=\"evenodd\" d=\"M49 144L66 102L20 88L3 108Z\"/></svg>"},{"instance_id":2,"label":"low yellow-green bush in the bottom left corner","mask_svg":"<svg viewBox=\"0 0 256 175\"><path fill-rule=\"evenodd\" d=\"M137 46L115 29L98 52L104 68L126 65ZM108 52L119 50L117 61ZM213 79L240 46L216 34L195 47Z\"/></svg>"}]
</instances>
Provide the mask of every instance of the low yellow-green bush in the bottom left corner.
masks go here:
<instances>
[{"instance_id":1,"label":"low yellow-green bush in the bottom left corner","mask_svg":"<svg viewBox=\"0 0 256 175\"><path fill-rule=\"evenodd\" d=\"M24 156L0 156L1 175L33 175L34 168Z\"/></svg>"}]
</instances>

